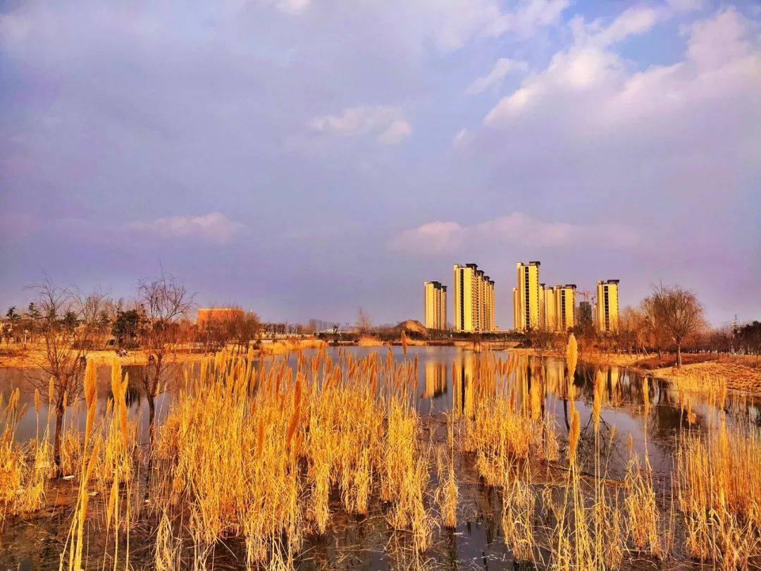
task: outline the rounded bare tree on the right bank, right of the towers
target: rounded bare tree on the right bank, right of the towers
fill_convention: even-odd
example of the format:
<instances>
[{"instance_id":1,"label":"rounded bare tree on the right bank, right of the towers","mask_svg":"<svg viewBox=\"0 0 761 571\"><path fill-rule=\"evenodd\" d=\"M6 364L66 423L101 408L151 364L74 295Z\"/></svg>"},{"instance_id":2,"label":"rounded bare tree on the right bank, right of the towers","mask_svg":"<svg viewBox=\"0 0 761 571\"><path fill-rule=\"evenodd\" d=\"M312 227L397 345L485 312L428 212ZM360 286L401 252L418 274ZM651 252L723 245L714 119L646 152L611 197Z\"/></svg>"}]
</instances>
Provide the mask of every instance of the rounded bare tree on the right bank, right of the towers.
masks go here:
<instances>
[{"instance_id":1,"label":"rounded bare tree on the right bank, right of the towers","mask_svg":"<svg viewBox=\"0 0 761 571\"><path fill-rule=\"evenodd\" d=\"M693 292L678 286L656 285L646 299L652 306L655 320L677 346L677 368L682 366L682 344L705 326L703 308Z\"/></svg>"}]
</instances>

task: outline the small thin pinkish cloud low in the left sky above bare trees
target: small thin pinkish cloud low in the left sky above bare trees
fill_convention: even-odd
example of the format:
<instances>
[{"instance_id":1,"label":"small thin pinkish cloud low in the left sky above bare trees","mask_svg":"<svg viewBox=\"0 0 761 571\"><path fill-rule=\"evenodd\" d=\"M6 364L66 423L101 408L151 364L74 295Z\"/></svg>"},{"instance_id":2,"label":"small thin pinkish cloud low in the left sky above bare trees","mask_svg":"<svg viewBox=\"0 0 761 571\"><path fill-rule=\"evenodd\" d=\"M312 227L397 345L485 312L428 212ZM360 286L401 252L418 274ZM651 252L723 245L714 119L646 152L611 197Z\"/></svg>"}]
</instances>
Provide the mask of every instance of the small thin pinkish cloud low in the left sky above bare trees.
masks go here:
<instances>
[{"instance_id":1,"label":"small thin pinkish cloud low in the left sky above bare trees","mask_svg":"<svg viewBox=\"0 0 761 571\"><path fill-rule=\"evenodd\" d=\"M169 216L149 221L132 222L129 229L164 238L204 238L217 244L225 244L244 228L219 212L193 216Z\"/></svg>"}]
</instances>

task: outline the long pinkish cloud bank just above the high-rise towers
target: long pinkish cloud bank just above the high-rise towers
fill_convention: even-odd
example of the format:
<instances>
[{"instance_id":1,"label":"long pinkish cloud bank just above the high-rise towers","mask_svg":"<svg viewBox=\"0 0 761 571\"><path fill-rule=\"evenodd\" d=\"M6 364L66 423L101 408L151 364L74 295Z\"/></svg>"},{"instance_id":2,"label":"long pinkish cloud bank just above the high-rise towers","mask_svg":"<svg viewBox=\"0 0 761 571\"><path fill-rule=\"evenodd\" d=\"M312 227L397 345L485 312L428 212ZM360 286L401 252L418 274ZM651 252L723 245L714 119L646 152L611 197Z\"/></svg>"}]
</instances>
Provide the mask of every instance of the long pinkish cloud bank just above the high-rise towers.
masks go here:
<instances>
[{"instance_id":1,"label":"long pinkish cloud bank just above the high-rise towers","mask_svg":"<svg viewBox=\"0 0 761 571\"><path fill-rule=\"evenodd\" d=\"M393 251L412 254L456 254L468 247L505 245L563 248L594 245L619 249L638 244L640 236L629 225L578 225L545 222L525 212L511 212L474 225L428 222L403 231L390 241Z\"/></svg>"}]
</instances>

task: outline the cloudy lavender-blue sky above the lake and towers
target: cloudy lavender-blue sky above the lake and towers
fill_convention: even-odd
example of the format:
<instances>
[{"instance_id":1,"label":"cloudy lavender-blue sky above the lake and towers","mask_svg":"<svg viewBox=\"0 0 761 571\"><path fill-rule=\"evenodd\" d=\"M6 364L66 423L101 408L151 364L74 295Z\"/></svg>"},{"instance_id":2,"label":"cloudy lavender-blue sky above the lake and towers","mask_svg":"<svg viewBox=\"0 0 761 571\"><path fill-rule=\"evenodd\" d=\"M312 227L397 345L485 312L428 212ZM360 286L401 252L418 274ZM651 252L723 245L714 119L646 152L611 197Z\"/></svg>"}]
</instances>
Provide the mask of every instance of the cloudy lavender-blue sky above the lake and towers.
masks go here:
<instances>
[{"instance_id":1,"label":"cloudy lavender-blue sky above the lake and towers","mask_svg":"<svg viewBox=\"0 0 761 571\"><path fill-rule=\"evenodd\" d=\"M761 318L761 4L0 2L0 305L422 319L453 263ZM451 305L451 304L450 304ZM451 312L451 307L450 307ZM450 313L451 314L451 313Z\"/></svg>"}]
</instances>

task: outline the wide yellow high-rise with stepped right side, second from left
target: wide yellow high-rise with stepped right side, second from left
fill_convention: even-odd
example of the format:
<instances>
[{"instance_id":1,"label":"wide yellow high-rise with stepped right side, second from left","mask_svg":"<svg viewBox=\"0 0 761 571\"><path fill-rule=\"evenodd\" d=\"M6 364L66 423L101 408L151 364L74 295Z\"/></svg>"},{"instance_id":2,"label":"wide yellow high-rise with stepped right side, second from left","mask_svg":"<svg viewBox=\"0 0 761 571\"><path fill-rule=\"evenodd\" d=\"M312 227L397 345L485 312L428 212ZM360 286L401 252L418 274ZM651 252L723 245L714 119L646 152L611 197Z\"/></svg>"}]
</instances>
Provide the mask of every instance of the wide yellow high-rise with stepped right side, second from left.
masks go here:
<instances>
[{"instance_id":1,"label":"wide yellow high-rise with stepped right side, second from left","mask_svg":"<svg viewBox=\"0 0 761 571\"><path fill-rule=\"evenodd\" d=\"M475 263L454 264L454 330L495 329L494 282Z\"/></svg>"}]
</instances>

